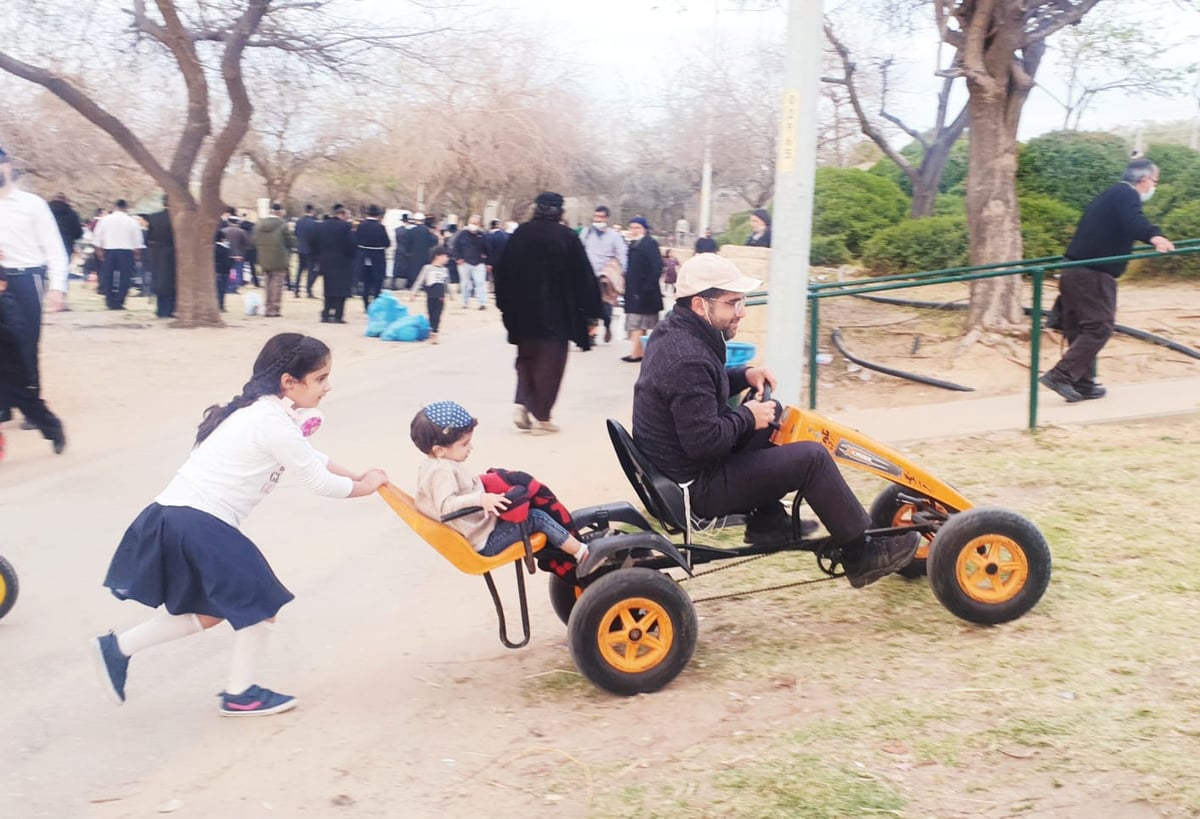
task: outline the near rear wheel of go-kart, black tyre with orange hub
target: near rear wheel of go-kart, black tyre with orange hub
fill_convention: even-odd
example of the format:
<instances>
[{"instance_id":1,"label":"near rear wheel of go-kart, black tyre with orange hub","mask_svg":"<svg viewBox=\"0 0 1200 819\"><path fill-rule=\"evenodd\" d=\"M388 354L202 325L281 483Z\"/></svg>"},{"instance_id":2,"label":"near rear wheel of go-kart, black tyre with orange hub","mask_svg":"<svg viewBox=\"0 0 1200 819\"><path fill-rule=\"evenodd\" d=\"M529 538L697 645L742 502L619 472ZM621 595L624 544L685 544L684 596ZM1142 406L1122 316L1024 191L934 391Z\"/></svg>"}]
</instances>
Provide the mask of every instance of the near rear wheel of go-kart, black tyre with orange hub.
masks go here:
<instances>
[{"instance_id":1,"label":"near rear wheel of go-kart, black tyre with orange hub","mask_svg":"<svg viewBox=\"0 0 1200 819\"><path fill-rule=\"evenodd\" d=\"M575 665L595 686L629 697L674 680L696 650L696 609L653 569L611 572L588 585L566 629Z\"/></svg>"}]
</instances>

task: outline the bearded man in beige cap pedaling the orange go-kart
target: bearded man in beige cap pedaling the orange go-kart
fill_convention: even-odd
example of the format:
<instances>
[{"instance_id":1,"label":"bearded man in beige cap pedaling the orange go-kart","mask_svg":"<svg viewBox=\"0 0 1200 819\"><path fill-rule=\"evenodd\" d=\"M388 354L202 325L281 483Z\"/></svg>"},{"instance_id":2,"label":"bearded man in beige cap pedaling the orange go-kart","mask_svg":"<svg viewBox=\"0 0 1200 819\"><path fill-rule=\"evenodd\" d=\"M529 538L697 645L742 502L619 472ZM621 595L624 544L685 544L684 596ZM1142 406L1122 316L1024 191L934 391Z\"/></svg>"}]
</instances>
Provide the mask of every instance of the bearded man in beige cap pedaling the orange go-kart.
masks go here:
<instances>
[{"instance_id":1,"label":"bearded man in beige cap pedaling the orange go-kart","mask_svg":"<svg viewBox=\"0 0 1200 819\"><path fill-rule=\"evenodd\" d=\"M862 588L907 566L920 536L868 537L871 518L824 447L770 443L778 402L730 407L733 393L775 387L766 367L725 367L725 342L745 315L745 294L760 285L715 253L679 268L676 305L655 328L634 387L634 442L672 480L691 482L685 491L696 515L752 513L746 543L797 539L779 501L798 491L841 546L850 585Z\"/></svg>"}]
</instances>

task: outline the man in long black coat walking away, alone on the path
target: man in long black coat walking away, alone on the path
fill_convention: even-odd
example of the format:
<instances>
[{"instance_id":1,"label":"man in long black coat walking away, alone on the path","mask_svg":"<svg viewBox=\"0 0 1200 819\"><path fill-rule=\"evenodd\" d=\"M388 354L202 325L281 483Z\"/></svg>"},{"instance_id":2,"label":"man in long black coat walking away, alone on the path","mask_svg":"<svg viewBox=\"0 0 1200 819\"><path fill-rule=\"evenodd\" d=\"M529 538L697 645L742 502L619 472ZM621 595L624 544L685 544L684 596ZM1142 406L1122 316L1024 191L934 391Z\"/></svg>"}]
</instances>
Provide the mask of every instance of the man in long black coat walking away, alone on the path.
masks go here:
<instances>
[{"instance_id":1,"label":"man in long black coat walking away, alone on the path","mask_svg":"<svg viewBox=\"0 0 1200 819\"><path fill-rule=\"evenodd\" d=\"M496 305L517 347L512 423L534 435L557 432L550 414L566 370L568 345L592 346L590 323L604 315L600 286L583 244L562 223L563 197L538 197L533 219L514 232L496 276Z\"/></svg>"}]
</instances>

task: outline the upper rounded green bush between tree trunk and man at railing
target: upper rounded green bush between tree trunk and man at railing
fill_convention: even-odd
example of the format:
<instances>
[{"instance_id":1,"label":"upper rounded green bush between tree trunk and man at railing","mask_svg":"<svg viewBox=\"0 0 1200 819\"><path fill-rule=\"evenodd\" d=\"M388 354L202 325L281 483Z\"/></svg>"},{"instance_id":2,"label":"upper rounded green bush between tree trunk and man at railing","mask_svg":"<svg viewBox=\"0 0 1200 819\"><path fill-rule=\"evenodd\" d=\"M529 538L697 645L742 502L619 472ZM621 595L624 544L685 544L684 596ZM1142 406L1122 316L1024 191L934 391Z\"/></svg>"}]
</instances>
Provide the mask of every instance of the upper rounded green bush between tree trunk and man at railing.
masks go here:
<instances>
[{"instance_id":1,"label":"upper rounded green bush between tree trunk and man at railing","mask_svg":"<svg viewBox=\"0 0 1200 819\"><path fill-rule=\"evenodd\" d=\"M1112 133L1057 131L1034 137L1018 150L1016 193L1058 199L1082 210L1121 179L1129 145Z\"/></svg>"}]
</instances>

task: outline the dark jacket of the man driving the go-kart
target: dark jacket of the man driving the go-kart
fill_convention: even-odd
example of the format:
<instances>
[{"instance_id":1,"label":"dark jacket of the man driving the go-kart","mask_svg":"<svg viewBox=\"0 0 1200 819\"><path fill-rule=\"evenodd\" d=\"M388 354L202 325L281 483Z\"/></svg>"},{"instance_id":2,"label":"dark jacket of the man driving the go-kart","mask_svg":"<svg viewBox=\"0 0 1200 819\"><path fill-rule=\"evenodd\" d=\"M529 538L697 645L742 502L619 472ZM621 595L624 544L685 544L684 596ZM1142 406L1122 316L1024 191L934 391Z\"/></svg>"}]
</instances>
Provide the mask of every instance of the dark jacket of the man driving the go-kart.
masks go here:
<instances>
[{"instance_id":1,"label":"dark jacket of the man driving the go-kart","mask_svg":"<svg viewBox=\"0 0 1200 819\"><path fill-rule=\"evenodd\" d=\"M718 467L754 432L754 413L730 407L749 384L746 367L725 367L725 340L678 304L646 345L634 385L634 442L672 480Z\"/></svg>"}]
</instances>

